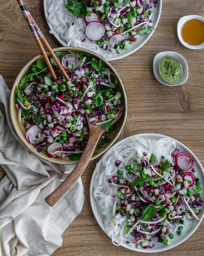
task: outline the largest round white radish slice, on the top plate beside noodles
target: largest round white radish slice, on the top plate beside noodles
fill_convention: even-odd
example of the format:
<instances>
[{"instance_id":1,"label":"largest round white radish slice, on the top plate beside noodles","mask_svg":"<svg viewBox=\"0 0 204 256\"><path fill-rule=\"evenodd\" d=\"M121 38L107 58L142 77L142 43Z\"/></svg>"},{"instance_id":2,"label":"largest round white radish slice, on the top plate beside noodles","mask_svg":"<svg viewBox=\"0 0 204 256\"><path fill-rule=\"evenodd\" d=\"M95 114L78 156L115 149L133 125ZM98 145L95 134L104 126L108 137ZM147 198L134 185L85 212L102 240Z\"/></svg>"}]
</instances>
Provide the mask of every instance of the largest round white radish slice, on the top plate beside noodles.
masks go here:
<instances>
[{"instance_id":1,"label":"largest round white radish slice, on the top plate beside noodles","mask_svg":"<svg viewBox=\"0 0 204 256\"><path fill-rule=\"evenodd\" d=\"M98 41L105 34L105 27L101 22L93 21L86 26L86 36L93 41Z\"/></svg>"}]
</instances>

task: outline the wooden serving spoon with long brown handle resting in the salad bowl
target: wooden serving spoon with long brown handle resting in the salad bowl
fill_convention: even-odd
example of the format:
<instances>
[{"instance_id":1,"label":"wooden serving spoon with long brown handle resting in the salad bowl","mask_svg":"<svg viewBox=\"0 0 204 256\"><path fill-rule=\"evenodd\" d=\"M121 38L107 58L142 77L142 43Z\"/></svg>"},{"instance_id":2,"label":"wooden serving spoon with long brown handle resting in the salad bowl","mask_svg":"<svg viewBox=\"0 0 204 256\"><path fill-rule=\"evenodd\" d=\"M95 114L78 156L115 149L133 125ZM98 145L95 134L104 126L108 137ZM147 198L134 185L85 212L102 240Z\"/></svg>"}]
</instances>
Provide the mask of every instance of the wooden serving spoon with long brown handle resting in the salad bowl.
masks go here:
<instances>
[{"instance_id":1,"label":"wooden serving spoon with long brown handle resting in the salad bowl","mask_svg":"<svg viewBox=\"0 0 204 256\"><path fill-rule=\"evenodd\" d=\"M123 104L124 108L124 104ZM116 118L112 120L112 124L114 124L118 119L123 115L123 108L119 111L116 112ZM102 128L102 125L94 125L88 121L88 115L86 114L86 119L88 122L88 127L89 127L89 137L88 141L86 144L86 148L83 151L83 154L81 155L79 162L75 166L74 170L70 173L70 175L62 182L57 189L55 189L48 197L45 198L45 201L53 207L57 202L59 202L65 195L70 191L72 186L75 185L77 180L81 177L82 173L85 171L86 166L88 165L94 150L97 146L97 143L105 131ZM98 123L99 124L99 123Z\"/></svg>"}]
</instances>

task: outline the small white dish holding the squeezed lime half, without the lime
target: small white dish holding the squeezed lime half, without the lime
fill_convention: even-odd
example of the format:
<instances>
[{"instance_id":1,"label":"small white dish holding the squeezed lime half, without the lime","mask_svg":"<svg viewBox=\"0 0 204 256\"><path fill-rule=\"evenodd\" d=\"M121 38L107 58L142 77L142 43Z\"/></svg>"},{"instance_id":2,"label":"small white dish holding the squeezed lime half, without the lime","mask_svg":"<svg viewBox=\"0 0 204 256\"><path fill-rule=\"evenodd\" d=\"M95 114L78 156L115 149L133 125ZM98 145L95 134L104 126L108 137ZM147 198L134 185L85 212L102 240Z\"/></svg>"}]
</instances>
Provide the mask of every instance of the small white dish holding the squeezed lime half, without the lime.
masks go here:
<instances>
[{"instance_id":1,"label":"small white dish holding the squeezed lime half, without the lime","mask_svg":"<svg viewBox=\"0 0 204 256\"><path fill-rule=\"evenodd\" d=\"M165 80L162 79L162 77L159 74L159 60L164 57L164 56L171 56L176 58L181 65L183 66L184 69L184 77L182 78L182 80L180 81L180 83L175 83L175 84L170 84L167 83ZM168 86L177 86L177 85L182 85L183 83L186 82L188 76L189 76L189 71L188 71L188 65L186 63L186 60L184 59L184 57L179 54L178 52L160 52L158 53L155 57L154 57L154 62L153 62L153 70L154 70L154 76L156 77L156 79L162 83L163 85L168 85Z\"/></svg>"}]
</instances>

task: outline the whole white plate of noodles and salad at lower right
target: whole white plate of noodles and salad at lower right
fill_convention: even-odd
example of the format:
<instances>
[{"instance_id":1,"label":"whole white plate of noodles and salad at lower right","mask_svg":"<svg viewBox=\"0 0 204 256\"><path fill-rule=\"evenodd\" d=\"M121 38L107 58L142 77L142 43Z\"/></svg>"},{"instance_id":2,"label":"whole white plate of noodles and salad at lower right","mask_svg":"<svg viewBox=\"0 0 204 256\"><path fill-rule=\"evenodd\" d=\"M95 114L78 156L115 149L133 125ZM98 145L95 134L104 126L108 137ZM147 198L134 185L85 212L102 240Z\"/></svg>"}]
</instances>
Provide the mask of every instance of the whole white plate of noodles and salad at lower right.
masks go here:
<instances>
[{"instance_id":1,"label":"whole white plate of noodles and salad at lower right","mask_svg":"<svg viewBox=\"0 0 204 256\"><path fill-rule=\"evenodd\" d=\"M204 170L189 148L145 133L119 141L103 155L92 175L90 202L114 245L162 252L180 245L200 225L203 184Z\"/></svg>"}]
</instances>

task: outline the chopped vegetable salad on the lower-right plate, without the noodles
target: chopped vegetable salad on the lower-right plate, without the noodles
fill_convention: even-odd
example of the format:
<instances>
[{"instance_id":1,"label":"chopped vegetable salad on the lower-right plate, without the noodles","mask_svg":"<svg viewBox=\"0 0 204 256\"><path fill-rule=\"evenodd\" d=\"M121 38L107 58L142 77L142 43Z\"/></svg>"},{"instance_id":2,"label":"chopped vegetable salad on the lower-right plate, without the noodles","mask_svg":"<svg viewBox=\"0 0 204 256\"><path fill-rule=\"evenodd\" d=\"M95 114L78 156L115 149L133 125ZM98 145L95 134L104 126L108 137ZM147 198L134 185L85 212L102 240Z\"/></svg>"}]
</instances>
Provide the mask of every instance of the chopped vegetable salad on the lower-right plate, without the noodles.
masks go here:
<instances>
[{"instance_id":1,"label":"chopped vegetable salad on the lower-right plate, without the noodles","mask_svg":"<svg viewBox=\"0 0 204 256\"><path fill-rule=\"evenodd\" d=\"M155 160L154 154L143 152L124 171L120 170L122 161L117 160L117 173L108 180L118 187L110 209L114 225L125 218L124 242L134 243L138 249L152 248L157 242L169 245L175 233L182 235L186 220L194 222L193 229L203 203L190 155L176 149L171 161L161 157L160 164L154 164Z\"/></svg>"}]
</instances>

